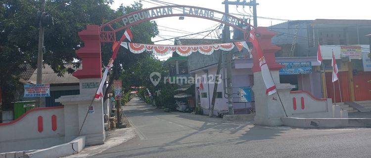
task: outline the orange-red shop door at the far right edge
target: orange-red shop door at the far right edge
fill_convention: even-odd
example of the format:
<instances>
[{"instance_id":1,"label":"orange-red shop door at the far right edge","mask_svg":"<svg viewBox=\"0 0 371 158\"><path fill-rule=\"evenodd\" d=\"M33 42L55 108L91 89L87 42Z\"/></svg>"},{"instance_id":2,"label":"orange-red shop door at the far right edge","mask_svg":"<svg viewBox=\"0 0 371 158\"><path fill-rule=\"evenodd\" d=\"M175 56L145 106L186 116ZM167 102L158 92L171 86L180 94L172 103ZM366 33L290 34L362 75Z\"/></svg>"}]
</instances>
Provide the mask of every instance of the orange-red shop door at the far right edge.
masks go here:
<instances>
[{"instance_id":1,"label":"orange-red shop door at the far right edge","mask_svg":"<svg viewBox=\"0 0 371 158\"><path fill-rule=\"evenodd\" d=\"M356 101L371 100L371 72L358 72L353 79Z\"/></svg>"}]
</instances>

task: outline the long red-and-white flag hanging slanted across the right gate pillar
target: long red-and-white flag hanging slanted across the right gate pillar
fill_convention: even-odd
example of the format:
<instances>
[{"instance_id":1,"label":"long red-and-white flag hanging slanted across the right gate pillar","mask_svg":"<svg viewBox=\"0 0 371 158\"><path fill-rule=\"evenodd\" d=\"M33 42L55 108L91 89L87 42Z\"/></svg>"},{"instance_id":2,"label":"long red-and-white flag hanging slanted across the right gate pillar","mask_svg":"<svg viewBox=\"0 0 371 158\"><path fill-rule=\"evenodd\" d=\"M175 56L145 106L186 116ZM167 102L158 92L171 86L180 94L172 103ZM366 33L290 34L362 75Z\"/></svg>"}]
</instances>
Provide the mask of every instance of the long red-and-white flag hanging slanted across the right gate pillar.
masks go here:
<instances>
[{"instance_id":1,"label":"long red-and-white flag hanging slanted across the right gate pillar","mask_svg":"<svg viewBox=\"0 0 371 158\"><path fill-rule=\"evenodd\" d=\"M267 62L266 62L264 54L263 54L263 50L260 47L259 41L256 38L256 35L255 35L254 31L255 30L250 31L250 39L249 40L252 43L252 45L253 45L253 47L256 51L256 55L259 59L259 66L260 66L260 69L262 70L262 76L263 76L265 86L267 87L266 94L272 95L272 94L277 92L276 85L275 85L275 82L272 79L271 72L269 71Z\"/></svg>"}]
</instances>

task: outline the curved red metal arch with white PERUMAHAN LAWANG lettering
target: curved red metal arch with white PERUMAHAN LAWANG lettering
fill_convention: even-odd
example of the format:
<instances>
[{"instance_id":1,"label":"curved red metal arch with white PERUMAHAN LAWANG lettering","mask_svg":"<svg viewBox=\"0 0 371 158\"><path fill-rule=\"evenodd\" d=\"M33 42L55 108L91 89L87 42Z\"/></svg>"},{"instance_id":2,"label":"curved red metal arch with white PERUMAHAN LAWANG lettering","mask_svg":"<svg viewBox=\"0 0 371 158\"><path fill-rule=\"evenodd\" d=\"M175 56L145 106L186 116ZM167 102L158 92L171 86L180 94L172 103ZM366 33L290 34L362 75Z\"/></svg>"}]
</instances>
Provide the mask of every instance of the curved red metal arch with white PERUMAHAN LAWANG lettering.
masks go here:
<instances>
[{"instance_id":1,"label":"curved red metal arch with white PERUMAHAN LAWANG lettering","mask_svg":"<svg viewBox=\"0 0 371 158\"><path fill-rule=\"evenodd\" d=\"M241 18L218 10L190 5L166 5L131 12L103 24L100 26L100 40L101 42L113 42L116 41L116 33L121 30L145 21L172 16L188 16L217 21L242 31L245 34L245 39L250 27L252 27Z\"/></svg>"}]
</instances>

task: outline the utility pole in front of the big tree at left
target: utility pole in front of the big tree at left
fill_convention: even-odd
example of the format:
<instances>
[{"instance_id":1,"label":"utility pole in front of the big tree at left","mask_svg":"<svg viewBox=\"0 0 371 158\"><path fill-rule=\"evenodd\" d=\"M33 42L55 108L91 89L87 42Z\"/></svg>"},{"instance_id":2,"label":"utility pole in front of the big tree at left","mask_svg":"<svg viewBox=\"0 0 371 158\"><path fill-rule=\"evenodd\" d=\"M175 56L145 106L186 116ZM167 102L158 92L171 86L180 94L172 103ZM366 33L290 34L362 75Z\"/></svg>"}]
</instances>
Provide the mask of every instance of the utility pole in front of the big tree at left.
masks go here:
<instances>
[{"instance_id":1,"label":"utility pole in front of the big tree at left","mask_svg":"<svg viewBox=\"0 0 371 158\"><path fill-rule=\"evenodd\" d=\"M41 0L40 10L45 12L45 0ZM44 53L44 27L42 20L39 21L39 48L38 48L38 74L36 76L36 84L41 84L43 82L43 53ZM41 97L36 98L36 107L40 107Z\"/></svg>"}]
</instances>

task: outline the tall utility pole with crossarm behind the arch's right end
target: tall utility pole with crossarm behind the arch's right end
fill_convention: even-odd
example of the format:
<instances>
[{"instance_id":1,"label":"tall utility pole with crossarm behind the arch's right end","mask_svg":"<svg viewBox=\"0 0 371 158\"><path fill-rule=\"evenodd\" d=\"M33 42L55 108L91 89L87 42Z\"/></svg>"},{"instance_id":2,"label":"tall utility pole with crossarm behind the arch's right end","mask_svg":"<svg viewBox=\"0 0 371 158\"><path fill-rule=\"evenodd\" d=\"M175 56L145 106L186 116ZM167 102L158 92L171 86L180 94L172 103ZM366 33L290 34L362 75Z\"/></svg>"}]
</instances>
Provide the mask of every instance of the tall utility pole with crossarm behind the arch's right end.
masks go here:
<instances>
[{"instance_id":1,"label":"tall utility pole with crossarm behind the arch's right end","mask_svg":"<svg viewBox=\"0 0 371 158\"><path fill-rule=\"evenodd\" d=\"M224 0L224 2L222 2L222 4L225 5L225 13L226 15L229 14L229 8L228 8L228 5L231 4L231 5L247 5L247 6L253 6L253 16L254 16L254 27L257 27L258 24L257 24L257 15L256 15L256 5L258 5L258 3L256 3L256 0L251 0L250 2L246 2L246 0L243 0L243 1L228 1L228 0ZM230 34L230 27L225 25L224 27L224 36L222 38L223 39L223 42L227 42L227 40L230 40L231 39L231 34ZM228 112L229 112L229 115L234 115L234 111L233 111L233 85L232 85L232 53L227 53L226 55L226 63L227 63L227 93L228 93Z\"/></svg>"}]
</instances>

